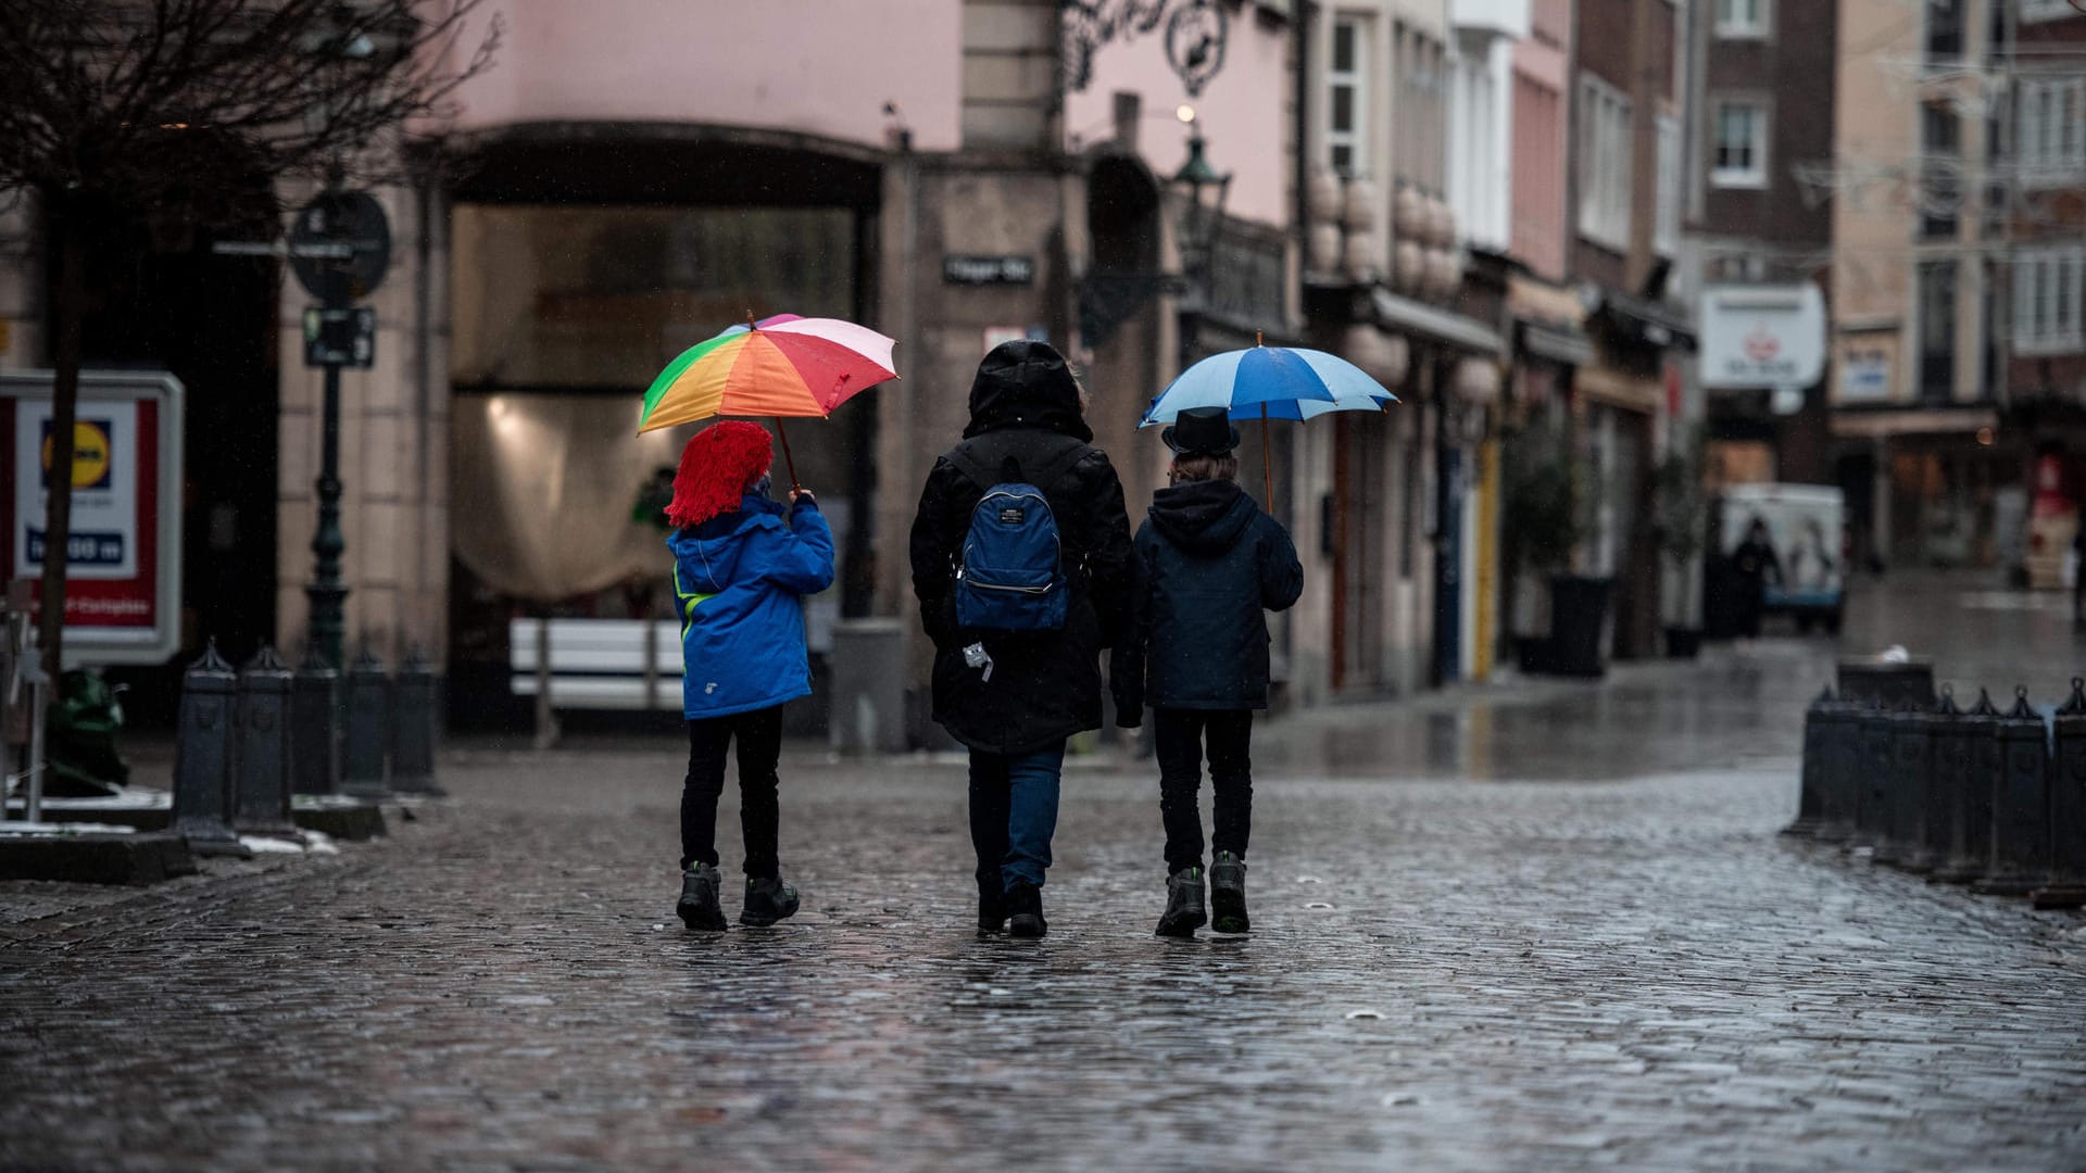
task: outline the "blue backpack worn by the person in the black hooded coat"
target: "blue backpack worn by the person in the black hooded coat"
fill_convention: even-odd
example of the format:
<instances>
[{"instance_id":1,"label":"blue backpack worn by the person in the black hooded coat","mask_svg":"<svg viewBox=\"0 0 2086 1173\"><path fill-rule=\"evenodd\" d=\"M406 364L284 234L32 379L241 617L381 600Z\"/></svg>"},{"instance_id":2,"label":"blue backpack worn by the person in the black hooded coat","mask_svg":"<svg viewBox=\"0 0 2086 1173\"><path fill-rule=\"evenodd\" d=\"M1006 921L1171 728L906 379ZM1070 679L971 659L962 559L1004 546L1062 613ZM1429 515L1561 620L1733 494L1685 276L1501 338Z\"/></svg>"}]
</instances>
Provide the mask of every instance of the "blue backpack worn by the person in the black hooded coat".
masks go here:
<instances>
[{"instance_id":1,"label":"blue backpack worn by the person in the black hooded coat","mask_svg":"<svg viewBox=\"0 0 2086 1173\"><path fill-rule=\"evenodd\" d=\"M1085 447L1074 447L1045 461L1037 480L1049 484L1083 455ZM1018 480L1012 457L997 482L962 449L951 463L985 488L955 566L955 622L976 630L1060 630L1070 591L1058 516L1043 490Z\"/></svg>"}]
</instances>

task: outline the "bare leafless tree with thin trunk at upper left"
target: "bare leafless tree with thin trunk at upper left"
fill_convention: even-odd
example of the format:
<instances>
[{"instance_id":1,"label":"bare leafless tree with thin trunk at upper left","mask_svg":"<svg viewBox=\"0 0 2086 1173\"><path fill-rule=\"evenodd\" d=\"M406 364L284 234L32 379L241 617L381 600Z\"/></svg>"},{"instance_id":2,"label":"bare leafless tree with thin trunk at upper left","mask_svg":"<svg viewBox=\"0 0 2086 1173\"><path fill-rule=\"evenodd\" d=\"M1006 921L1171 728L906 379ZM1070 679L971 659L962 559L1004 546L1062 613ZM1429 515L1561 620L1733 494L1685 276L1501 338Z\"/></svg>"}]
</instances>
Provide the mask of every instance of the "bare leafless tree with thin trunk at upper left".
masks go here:
<instances>
[{"instance_id":1,"label":"bare leafless tree with thin trunk at upper left","mask_svg":"<svg viewBox=\"0 0 2086 1173\"><path fill-rule=\"evenodd\" d=\"M33 194L56 265L44 664L65 630L86 240L111 207L211 223L273 184L378 179L492 65L482 0L4 0L0 194ZM476 40L476 44L471 44Z\"/></svg>"}]
</instances>

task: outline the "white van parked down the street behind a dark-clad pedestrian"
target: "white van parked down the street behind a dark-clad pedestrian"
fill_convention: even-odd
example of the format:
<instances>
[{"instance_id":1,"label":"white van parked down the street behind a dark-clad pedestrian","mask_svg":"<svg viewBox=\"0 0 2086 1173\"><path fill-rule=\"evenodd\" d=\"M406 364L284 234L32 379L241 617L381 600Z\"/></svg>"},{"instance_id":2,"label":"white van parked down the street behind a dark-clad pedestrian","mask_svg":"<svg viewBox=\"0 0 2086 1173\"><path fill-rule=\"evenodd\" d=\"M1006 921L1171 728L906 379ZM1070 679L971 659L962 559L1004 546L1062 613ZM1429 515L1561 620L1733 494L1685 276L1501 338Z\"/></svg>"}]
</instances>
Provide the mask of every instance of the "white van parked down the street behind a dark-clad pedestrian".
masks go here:
<instances>
[{"instance_id":1,"label":"white van parked down the street behind a dark-clad pedestrian","mask_svg":"<svg viewBox=\"0 0 2086 1173\"><path fill-rule=\"evenodd\" d=\"M1746 541L1752 522L1765 522L1781 570L1779 578L1767 576L1767 612L1794 616L1802 630L1823 622L1838 632L1846 605L1844 513L1842 493L1827 484L1733 484L1723 490L1723 553Z\"/></svg>"}]
</instances>

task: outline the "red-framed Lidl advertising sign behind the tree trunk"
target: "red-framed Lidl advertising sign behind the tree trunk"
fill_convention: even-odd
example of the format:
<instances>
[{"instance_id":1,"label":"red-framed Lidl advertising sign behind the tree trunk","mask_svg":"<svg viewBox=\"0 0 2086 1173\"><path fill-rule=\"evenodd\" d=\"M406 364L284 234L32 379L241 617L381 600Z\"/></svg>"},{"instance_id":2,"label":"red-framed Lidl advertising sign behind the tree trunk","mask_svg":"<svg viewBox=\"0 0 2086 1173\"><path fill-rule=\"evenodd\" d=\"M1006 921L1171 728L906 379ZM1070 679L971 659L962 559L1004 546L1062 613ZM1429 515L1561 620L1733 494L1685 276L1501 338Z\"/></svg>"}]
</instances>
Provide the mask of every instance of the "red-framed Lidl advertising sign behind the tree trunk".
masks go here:
<instances>
[{"instance_id":1,"label":"red-framed Lidl advertising sign behind the tree trunk","mask_svg":"<svg viewBox=\"0 0 2086 1173\"><path fill-rule=\"evenodd\" d=\"M0 580L38 578L50 503L48 374L0 376ZM181 384L167 374L81 374L67 541L67 664L159 664L179 647Z\"/></svg>"}]
</instances>

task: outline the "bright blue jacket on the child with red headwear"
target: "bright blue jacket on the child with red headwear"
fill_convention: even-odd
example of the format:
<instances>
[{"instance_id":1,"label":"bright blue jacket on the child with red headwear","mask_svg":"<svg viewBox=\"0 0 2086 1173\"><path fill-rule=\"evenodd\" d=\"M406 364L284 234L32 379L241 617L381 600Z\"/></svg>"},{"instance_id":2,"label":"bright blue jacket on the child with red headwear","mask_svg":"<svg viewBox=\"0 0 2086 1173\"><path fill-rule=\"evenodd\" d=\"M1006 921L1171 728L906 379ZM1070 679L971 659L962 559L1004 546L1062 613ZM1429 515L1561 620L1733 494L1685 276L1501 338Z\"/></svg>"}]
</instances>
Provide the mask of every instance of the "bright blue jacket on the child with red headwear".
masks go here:
<instances>
[{"instance_id":1,"label":"bright blue jacket on the child with red headwear","mask_svg":"<svg viewBox=\"0 0 2086 1173\"><path fill-rule=\"evenodd\" d=\"M688 720L811 695L803 603L832 586L832 530L818 505L747 495L736 513L668 534L680 614L680 703Z\"/></svg>"}]
</instances>

